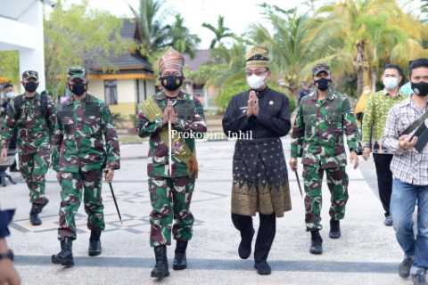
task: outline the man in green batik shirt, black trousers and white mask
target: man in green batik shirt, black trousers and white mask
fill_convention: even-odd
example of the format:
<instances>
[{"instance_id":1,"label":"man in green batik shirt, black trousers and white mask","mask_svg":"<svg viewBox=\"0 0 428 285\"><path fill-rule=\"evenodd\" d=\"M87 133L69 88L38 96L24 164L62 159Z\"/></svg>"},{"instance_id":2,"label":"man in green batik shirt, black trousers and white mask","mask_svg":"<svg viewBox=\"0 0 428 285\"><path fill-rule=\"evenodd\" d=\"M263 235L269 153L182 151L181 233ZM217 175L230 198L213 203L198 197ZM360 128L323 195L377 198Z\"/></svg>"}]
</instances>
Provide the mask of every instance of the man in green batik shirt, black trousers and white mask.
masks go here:
<instances>
[{"instance_id":1,"label":"man in green batik shirt, black trousers and white mask","mask_svg":"<svg viewBox=\"0 0 428 285\"><path fill-rule=\"evenodd\" d=\"M363 158L368 159L373 152L374 166L376 167L377 186L385 220L383 224L392 225L390 202L392 193L391 160L393 154L382 145L383 131L386 118L391 108L407 98L400 94L399 83L402 72L398 65L388 64L383 70L383 85L385 88L377 93L370 94L366 103L363 118Z\"/></svg>"}]
</instances>

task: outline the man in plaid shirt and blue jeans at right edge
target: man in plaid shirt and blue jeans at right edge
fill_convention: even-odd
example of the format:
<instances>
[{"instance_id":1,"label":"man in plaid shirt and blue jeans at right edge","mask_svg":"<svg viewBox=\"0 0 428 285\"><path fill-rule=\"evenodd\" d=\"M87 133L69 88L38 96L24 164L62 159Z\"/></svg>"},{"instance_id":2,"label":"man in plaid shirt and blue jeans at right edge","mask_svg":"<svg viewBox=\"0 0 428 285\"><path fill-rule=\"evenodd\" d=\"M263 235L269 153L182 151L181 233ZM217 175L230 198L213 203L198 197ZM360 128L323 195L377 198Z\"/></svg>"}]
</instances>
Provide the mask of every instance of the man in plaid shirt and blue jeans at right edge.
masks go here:
<instances>
[{"instance_id":1,"label":"man in plaid shirt and blue jeans at right edge","mask_svg":"<svg viewBox=\"0 0 428 285\"><path fill-rule=\"evenodd\" d=\"M391 171L394 177L391 195L391 217L400 247L405 253L399 265L399 276L410 274L414 284L426 285L428 268L428 146L416 151L417 137L403 134L416 119L428 111L428 59L410 62L413 94L395 105L388 116L383 146L394 157ZM425 124L426 124L425 120ZM425 130L426 132L427 130ZM413 231L413 213L417 210L417 236Z\"/></svg>"}]
</instances>

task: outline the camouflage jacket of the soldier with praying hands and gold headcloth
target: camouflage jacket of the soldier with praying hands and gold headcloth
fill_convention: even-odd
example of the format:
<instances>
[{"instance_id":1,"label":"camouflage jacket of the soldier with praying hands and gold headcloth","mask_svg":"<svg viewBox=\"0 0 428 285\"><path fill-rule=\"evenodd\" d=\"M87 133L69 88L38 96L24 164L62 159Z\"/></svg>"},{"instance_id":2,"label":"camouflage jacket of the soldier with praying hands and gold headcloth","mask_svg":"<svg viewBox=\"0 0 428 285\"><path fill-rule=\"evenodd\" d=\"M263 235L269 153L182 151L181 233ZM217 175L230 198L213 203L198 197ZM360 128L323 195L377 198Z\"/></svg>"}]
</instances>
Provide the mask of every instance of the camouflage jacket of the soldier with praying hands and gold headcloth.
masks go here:
<instances>
[{"instance_id":1,"label":"camouflage jacket of the soldier with praying hands and gold headcloth","mask_svg":"<svg viewBox=\"0 0 428 285\"><path fill-rule=\"evenodd\" d=\"M163 92L153 96L155 102L161 108L162 112L168 104L168 98ZM172 106L177 114L177 123L172 124L172 129L177 131L177 134L193 134L194 137L199 137L207 131L205 117L201 102L189 94L180 92L177 99L174 99ZM163 115L163 113L162 113ZM154 121L149 121L144 117L143 112L140 112L138 124L138 135L141 137L150 136L149 140L149 158L147 164L147 174L151 177L169 177L169 145L168 142L162 142L159 131L168 124L162 123L162 116ZM194 137L185 138L184 142L189 146L190 150L195 151ZM182 177L188 175L187 165L177 158L175 150L179 146L174 146L172 150L172 177Z\"/></svg>"}]
</instances>

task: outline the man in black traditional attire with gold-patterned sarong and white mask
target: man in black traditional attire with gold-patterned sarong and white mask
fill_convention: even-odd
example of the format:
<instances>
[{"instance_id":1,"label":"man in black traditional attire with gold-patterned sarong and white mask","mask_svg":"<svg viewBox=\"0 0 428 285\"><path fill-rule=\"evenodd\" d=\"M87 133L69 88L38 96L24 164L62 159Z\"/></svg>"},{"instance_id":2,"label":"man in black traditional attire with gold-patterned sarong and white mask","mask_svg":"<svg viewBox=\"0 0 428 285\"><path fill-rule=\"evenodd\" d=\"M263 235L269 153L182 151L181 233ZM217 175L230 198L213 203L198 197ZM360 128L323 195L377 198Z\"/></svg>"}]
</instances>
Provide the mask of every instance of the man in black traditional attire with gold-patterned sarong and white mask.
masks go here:
<instances>
[{"instance_id":1,"label":"man in black traditional attire with gold-patterned sarong and white mask","mask_svg":"<svg viewBox=\"0 0 428 285\"><path fill-rule=\"evenodd\" d=\"M236 94L223 118L223 130L238 138L235 144L232 186L232 222L241 233L238 254L251 255L252 216L259 213L254 268L271 273L267 259L275 238L276 217L291 210L287 168L281 137L290 131L289 102L268 87L268 50L256 46L246 55L250 90Z\"/></svg>"}]
</instances>

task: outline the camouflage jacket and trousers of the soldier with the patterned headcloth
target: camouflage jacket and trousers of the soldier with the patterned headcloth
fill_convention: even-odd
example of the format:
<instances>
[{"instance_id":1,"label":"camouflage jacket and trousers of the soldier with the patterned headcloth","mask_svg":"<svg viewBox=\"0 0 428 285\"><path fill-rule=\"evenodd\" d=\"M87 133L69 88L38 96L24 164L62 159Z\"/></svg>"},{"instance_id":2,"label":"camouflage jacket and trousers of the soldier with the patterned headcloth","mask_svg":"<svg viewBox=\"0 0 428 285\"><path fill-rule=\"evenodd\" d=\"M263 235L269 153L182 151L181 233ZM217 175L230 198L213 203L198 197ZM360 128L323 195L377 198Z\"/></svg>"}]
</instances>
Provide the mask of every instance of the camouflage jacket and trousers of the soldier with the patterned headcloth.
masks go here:
<instances>
[{"instance_id":1,"label":"camouflage jacket and trousers of the soldier with the patterned headcloth","mask_svg":"<svg viewBox=\"0 0 428 285\"><path fill-rule=\"evenodd\" d=\"M153 96L162 112L167 107L168 99L161 92ZM207 126L203 115L202 104L189 94L180 92L177 99L172 100L173 108L177 114L177 123L172 129L180 134L202 135ZM162 113L163 114L163 113ZM174 143L172 150L172 173L169 175L169 142L163 142L159 132L163 125L162 118L149 120L144 112L139 114L138 135L150 135L149 157L147 165L149 175L149 191L152 202L150 214L152 247L171 244L171 224L173 218L177 222L172 227L174 239L190 240L192 238L193 215L190 212L190 201L194 188L195 175L189 174L189 167L177 157L180 151L179 143ZM187 138L184 142L194 153L194 139Z\"/></svg>"}]
</instances>

